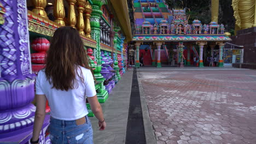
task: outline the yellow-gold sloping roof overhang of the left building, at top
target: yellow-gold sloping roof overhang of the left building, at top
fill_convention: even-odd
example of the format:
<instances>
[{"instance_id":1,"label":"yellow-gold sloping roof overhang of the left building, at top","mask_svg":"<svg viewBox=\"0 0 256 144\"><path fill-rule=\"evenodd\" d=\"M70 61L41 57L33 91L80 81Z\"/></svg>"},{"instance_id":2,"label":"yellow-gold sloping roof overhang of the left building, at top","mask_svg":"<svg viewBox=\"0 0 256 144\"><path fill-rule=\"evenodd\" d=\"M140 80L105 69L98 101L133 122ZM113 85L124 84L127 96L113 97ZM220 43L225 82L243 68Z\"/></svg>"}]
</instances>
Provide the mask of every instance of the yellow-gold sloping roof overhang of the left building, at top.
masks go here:
<instances>
[{"instance_id":1,"label":"yellow-gold sloping roof overhang of the left building, at top","mask_svg":"<svg viewBox=\"0 0 256 144\"><path fill-rule=\"evenodd\" d=\"M114 8L115 14L117 14L118 20L120 22L120 27L123 29L125 34L125 38L127 41L132 40L132 32L131 32L131 23L128 11L128 5L126 0L110 0L112 6Z\"/></svg>"}]
</instances>

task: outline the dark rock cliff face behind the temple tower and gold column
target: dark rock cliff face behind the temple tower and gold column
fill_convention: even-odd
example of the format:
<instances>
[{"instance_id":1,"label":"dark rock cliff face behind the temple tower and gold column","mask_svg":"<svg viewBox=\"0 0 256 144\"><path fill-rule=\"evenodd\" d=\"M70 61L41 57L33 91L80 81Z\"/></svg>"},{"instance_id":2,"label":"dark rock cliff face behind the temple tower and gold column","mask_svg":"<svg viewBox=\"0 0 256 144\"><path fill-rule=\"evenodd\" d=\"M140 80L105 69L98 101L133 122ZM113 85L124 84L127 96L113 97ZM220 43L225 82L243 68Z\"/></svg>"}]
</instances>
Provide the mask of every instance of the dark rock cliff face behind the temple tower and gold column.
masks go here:
<instances>
[{"instance_id":1,"label":"dark rock cliff face behind the temple tower and gold column","mask_svg":"<svg viewBox=\"0 0 256 144\"><path fill-rule=\"evenodd\" d=\"M202 23L211 22L211 1L210 0L166 0L169 8L189 8L187 14L190 14L189 21L199 19ZM219 20L218 23L225 26L226 31L235 29L234 11L231 7L231 0L219 1Z\"/></svg>"}]
</instances>

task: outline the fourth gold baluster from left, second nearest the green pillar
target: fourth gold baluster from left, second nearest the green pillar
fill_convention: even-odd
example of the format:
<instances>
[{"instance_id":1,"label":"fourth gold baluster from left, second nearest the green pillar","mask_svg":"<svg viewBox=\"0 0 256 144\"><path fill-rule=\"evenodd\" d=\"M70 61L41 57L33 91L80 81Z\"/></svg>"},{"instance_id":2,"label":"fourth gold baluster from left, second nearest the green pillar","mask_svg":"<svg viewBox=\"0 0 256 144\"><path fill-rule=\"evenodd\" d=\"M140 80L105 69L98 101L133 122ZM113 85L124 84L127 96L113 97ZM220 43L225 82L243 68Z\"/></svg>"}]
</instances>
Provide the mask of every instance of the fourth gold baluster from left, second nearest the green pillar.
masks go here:
<instances>
[{"instance_id":1,"label":"fourth gold baluster from left, second nearest the green pillar","mask_svg":"<svg viewBox=\"0 0 256 144\"><path fill-rule=\"evenodd\" d=\"M78 10L78 17L77 17L77 29L80 34L84 35L84 7L85 7L86 1L85 0L77 0L77 10Z\"/></svg>"}]
</instances>

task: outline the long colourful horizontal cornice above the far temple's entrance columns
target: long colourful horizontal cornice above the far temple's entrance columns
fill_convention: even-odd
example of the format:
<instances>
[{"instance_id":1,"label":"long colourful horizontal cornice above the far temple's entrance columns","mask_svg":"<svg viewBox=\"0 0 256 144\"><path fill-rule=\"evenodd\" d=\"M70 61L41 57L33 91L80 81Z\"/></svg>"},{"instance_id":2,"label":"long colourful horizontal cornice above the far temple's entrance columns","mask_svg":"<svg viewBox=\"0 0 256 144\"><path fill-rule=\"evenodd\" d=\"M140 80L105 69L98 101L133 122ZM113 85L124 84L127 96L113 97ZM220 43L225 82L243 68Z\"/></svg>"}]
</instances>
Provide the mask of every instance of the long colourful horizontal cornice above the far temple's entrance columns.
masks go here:
<instances>
[{"instance_id":1,"label":"long colourful horizontal cornice above the far temple's entrance columns","mask_svg":"<svg viewBox=\"0 0 256 144\"><path fill-rule=\"evenodd\" d=\"M212 35L146 35L136 34L132 38L132 41L231 41L229 37L224 34L212 34Z\"/></svg>"}]
</instances>

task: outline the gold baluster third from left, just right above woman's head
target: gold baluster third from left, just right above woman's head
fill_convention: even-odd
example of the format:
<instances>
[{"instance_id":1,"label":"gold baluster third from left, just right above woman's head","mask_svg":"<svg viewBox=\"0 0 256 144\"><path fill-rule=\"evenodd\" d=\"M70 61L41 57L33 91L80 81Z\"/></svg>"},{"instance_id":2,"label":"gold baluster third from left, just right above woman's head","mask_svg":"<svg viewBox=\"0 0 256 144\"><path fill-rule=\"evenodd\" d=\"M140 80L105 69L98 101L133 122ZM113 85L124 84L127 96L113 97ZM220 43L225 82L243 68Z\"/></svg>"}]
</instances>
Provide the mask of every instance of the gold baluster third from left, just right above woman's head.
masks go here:
<instances>
[{"instance_id":1,"label":"gold baluster third from left, just right above woman's head","mask_svg":"<svg viewBox=\"0 0 256 144\"><path fill-rule=\"evenodd\" d=\"M76 0L67 0L69 4L68 9L68 22L69 26L75 28L75 24L77 23L77 17L75 16L75 8L74 5L77 2Z\"/></svg>"}]
</instances>

